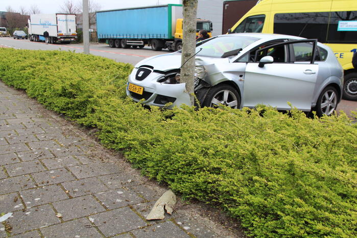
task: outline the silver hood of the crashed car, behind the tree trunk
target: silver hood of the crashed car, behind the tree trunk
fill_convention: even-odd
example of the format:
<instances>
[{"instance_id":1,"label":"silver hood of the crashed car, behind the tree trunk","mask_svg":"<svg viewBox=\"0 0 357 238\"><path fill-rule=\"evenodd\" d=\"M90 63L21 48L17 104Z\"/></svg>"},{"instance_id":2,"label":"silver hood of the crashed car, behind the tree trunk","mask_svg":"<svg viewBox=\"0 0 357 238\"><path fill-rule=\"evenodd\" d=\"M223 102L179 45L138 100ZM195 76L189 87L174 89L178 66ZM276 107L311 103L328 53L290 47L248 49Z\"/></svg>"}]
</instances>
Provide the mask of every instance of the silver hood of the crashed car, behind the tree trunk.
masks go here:
<instances>
[{"instance_id":1,"label":"silver hood of the crashed car, behind the tree trunk","mask_svg":"<svg viewBox=\"0 0 357 238\"><path fill-rule=\"evenodd\" d=\"M196 56L196 65L211 65L217 63L228 63L228 58L212 58ZM154 70L169 71L179 69L181 67L181 53L175 52L171 54L158 55L140 61L135 65L135 68L141 66L151 66Z\"/></svg>"}]
</instances>

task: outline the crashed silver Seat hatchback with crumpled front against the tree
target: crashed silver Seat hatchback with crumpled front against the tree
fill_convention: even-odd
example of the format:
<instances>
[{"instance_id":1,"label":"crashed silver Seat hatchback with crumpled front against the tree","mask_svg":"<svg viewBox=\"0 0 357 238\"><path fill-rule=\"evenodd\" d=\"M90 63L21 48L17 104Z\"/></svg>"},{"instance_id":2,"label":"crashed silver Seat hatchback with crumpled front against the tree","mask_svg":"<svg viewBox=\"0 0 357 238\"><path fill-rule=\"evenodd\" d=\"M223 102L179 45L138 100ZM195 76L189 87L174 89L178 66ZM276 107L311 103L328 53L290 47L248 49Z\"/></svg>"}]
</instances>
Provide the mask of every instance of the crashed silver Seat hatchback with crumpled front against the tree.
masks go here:
<instances>
[{"instance_id":1,"label":"crashed silver Seat hatchback with crumpled front against the tree","mask_svg":"<svg viewBox=\"0 0 357 238\"><path fill-rule=\"evenodd\" d=\"M341 100L343 69L334 52L315 39L229 34L198 43L196 52L195 94L201 107L266 104L290 110L290 102L321 116L331 115ZM127 95L158 107L189 105L180 67L180 51L140 61L129 75Z\"/></svg>"}]
</instances>

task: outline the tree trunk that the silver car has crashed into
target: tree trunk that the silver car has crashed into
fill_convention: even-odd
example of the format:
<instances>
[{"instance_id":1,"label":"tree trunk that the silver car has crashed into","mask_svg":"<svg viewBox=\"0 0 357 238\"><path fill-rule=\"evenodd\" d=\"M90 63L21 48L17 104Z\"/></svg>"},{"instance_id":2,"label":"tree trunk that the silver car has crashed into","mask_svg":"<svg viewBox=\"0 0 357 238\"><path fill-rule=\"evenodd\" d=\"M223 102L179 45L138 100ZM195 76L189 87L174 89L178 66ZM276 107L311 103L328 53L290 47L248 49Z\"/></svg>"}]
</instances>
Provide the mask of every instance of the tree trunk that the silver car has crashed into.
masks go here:
<instances>
[{"instance_id":1,"label":"tree trunk that the silver car has crashed into","mask_svg":"<svg viewBox=\"0 0 357 238\"><path fill-rule=\"evenodd\" d=\"M196 12L198 0L183 0L183 34L180 82L186 84L191 105L194 105L195 49L196 49ZM191 59L189 59L192 57ZM188 60L189 59L189 60ZM188 61L187 61L188 60ZM186 62L187 61L187 62ZM185 63L186 62L186 63Z\"/></svg>"}]
</instances>

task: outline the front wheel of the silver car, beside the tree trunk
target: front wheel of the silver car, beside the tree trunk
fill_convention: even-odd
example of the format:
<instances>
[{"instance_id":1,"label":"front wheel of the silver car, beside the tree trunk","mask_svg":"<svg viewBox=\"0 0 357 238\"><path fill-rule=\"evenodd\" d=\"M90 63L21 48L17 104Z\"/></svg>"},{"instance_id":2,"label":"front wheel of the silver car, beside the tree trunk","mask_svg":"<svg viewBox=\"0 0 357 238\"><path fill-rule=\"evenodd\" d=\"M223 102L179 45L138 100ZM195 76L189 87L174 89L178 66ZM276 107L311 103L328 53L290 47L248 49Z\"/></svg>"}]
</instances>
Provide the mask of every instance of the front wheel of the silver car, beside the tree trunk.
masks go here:
<instances>
[{"instance_id":1,"label":"front wheel of the silver car, beside the tree trunk","mask_svg":"<svg viewBox=\"0 0 357 238\"><path fill-rule=\"evenodd\" d=\"M203 100L202 106L217 108L221 104L233 109L239 109L241 97L237 90L225 84L210 88Z\"/></svg>"}]
</instances>

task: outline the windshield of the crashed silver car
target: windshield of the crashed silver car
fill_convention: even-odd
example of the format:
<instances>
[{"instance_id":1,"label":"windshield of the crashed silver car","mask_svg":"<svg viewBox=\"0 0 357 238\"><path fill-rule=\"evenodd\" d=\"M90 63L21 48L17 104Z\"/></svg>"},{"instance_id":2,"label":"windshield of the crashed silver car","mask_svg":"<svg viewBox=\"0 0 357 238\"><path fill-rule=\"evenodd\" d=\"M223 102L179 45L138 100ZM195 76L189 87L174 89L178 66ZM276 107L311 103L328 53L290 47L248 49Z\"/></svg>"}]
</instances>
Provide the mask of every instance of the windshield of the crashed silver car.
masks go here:
<instances>
[{"instance_id":1,"label":"windshield of the crashed silver car","mask_svg":"<svg viewBox=\"0 0 357 238\"><path fill-rule=\"evenodd\" d=\"M196 47L198 56L222 57L225 52L245 48L259 38L248 36L222 36L208 40Z\"/></svg>"}]
</instances>

